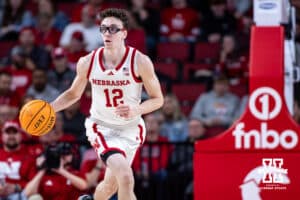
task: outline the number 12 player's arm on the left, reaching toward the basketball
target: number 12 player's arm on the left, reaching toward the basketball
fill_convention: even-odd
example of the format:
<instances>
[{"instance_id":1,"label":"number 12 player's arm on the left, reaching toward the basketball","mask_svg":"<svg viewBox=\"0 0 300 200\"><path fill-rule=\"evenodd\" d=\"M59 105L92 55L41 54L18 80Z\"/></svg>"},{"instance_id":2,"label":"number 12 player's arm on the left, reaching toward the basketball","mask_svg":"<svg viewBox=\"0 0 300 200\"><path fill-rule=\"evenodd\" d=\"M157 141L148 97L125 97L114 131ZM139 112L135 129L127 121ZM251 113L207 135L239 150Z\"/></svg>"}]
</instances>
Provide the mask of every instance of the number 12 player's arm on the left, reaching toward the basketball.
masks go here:
<instances>
[{"instance_id":1,"label":"number 12 player's arm on the left, reaching toward the basketball","mask_svg":"<svg viewBox=\"0 0 300 200\"><path fill-rule=\"evenodd\" d=\"M78 101L87 85L87 73L92 59L92 53L81 57L77 63L76 76L72 85L65 92L59 95L51 105L55 112L59 112Z\"/></svg>"}]
</instances>

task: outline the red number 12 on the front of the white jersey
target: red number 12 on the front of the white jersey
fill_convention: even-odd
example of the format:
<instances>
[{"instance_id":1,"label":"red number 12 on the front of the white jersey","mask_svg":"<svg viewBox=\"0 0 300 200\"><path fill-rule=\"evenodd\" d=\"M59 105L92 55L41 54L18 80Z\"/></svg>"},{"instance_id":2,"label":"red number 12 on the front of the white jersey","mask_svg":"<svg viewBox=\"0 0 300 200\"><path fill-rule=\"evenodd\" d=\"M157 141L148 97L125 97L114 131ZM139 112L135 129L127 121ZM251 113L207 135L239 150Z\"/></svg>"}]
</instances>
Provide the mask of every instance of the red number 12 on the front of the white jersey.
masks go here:
<instances>
[{"instance_id":1,"label":"red number 12 on the front of the white jersey","mask_svg":"<svg viewBox=\"0 0 300 200\"><path fill-rule=\"evenodd\" d=\"M106 107L117 107L120 104L123 104L123 90L121 89L105 89L104 90L106 98Z\"/></svg>"}]
</instances>

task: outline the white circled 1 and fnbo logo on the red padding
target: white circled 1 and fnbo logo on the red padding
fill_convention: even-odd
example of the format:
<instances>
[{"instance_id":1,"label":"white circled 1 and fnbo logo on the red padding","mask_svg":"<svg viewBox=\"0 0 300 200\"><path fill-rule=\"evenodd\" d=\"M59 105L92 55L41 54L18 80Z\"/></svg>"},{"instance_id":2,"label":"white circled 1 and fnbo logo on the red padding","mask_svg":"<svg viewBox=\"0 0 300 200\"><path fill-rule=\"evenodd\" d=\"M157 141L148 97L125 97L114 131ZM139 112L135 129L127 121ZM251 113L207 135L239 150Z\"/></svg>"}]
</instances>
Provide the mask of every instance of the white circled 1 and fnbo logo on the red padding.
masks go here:
<instances>
[{"instance_id":1,"label":"white circled 1 and fnbo logo on the red padding","mask_svg":"<svg viewBox=\"0 0 300 200\"><path fill-rule=\"evenodd\" d=\"M271 103L273 102L273 104ZM258 108L258 104L259 106ZM281 112L282 101L277 91L270 87L256 89L249 98L249 109L260 122L259 129L245 131L246 122L235 126L236 149L293 149L298 144L298 135L291 129L275 130L268 127L268 120L275 119Z\"/></svg>"}]
</instances>

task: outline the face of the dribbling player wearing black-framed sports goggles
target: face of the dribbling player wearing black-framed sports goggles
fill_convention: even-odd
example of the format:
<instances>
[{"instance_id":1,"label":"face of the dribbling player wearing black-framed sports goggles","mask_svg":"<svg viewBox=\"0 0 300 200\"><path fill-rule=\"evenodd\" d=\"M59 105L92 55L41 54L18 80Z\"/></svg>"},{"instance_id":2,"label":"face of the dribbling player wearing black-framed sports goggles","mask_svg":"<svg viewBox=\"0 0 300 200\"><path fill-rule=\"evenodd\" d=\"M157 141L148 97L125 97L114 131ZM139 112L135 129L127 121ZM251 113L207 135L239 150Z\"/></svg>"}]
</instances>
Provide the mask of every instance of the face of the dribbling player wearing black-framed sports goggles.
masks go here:
<instances>
[{"instance_id":1,"label":"face of the dribbling player wearing black-framed sports goggles","mask_svg":"<svg viewBox=\"0 0 300 200\"><path fill-rule=\"evenodd\" d=\"M121 20L115 17L107 17L102 20L100 33L104 41L104 46L114 48L124 44L127 31L124 29Z\"/></svg>"}]
</instances>

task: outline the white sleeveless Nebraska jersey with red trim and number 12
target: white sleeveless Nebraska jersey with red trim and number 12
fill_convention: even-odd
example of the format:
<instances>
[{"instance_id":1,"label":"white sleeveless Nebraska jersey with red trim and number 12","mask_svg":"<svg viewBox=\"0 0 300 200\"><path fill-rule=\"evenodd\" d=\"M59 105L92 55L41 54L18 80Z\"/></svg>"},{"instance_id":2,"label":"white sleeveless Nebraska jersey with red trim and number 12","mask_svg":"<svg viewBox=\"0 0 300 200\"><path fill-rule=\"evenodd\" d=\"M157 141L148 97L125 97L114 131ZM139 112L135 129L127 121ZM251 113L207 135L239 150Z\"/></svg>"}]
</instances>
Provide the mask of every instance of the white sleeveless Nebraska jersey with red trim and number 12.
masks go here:
<instances>
[{"instance_id":1,"label":"white sleeveless Nebraska jersey with red trim and number 12","mask_svg":"<svg viewBox=\"0 0 300 200\"><path fill-rule=\"evenodd\" d=\"M115 113L120 104L136 107L141 102L142 81L135 73L136 49L126 46L124 57L114 69L104 67L103 51L95 50L88 72L92 88L90 118L115 126L137 125L141 116L126 119Z\"/></svg>"}]
</instances>

